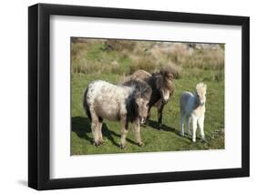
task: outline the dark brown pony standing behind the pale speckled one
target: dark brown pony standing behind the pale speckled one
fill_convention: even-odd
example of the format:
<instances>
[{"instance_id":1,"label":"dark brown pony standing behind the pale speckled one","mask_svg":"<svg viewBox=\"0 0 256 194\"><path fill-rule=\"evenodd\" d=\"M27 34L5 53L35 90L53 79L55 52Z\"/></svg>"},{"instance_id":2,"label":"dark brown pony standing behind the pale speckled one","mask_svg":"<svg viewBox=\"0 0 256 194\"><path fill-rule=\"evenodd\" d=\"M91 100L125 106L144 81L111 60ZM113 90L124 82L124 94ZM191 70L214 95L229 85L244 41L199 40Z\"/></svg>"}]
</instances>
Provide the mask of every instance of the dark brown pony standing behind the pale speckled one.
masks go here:
<instances>
[{"instance_id":1,"label":"dark brown pony standing behind the pale speckled one","mask_svg":"<svg viewBox=\"0 0 256 194\"><path fill-rule=\"evenodd\" d=\"M170 66L165 66L160 69L159 72L149 74L144 70L135 71L129 79L141 79L148 83L152 89L152 94L148 104L148 119L150 117L151 107L158 108L158 118L159 118L159 129L162 125L162 112L163 108L169 101L169 98L174 94L174 83L173 83L173 69Z\"/></svg>"}]
</instances>

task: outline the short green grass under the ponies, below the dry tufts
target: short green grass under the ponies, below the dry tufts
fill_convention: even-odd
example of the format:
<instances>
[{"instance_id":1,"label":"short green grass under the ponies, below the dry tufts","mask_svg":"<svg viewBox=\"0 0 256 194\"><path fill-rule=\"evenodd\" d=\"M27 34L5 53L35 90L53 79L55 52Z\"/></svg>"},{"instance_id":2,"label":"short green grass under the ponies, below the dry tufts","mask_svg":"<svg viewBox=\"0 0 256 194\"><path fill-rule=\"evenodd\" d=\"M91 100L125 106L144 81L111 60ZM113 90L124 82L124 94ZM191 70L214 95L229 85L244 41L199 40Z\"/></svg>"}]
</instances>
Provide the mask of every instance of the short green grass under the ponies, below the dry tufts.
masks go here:
<instances>
[{"instance_id":1,"label":"short green grass under the ponies, below the dry tufts","mask_svg":"<svg viewBox=\"0 0 256 194\"><path fill-rule=\"evenodd\" d=\"M111 83L118 83L118 74L73 74L72 75L72 131L71 131L71 154L109 154L130 152L153 152L153 151L176 151L195 149L220 149L224 148L224 82L207 81L211 72L204 70L201 78L182 77L175 80L175 94L170 99L163 111L163 129L158 130L157 111L152 108L150 122L147 127L141 127L143 147L135 144L132 130L129 130L127 148L119 148L120 124L104 120L103 137L106 143L100 147L93 146L93 137L90 123L84 114L82 96L88 83L102 79ZM197 83L204 81L208 85L205 134L208 142L197 139L191 142L189 137L179 136L179 96L185 91L194 91ZM129 127L130 129L130 127ZM199 130L198 130L199 132ZM200 137L200 134L197 135Z\"/></svg>"}]
</instances>

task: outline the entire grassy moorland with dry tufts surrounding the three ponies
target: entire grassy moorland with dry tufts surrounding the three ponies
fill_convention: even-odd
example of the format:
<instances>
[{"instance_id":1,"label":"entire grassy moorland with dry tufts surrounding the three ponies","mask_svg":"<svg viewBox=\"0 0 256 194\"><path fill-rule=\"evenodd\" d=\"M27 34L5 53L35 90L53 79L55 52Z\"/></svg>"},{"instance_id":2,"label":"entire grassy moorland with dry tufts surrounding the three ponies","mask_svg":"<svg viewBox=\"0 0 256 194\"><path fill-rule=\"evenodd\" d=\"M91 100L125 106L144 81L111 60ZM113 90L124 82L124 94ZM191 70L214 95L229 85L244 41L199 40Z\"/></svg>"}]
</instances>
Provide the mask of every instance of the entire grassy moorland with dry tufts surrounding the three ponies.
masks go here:
<instances>
[{"instance_id":1,"label":"entire grassy moorland with dry tufts surrounding the three ponies","mask_svg":"<svg viewBox=\"0 0 256 194\"><path fill-rule=\"evenodd\" d=\"M224 50L224 45L217 44L72 38L71 154L224 148ZM82 107L88 83L102 79L119 84L137 69L153 73L167 65L173 69L176 90L163 112L163 130L157 129L157 111L153 107L149 125L141 127L144 147L135 145L133 131L129 130L128 147L120 149L120 124L108 120L103 125L106 144L94 147L90 123ZM193 92L201 81L208 85L205 116L208 142L199 139L192 143L189 137L179 136L179 97L183 91Z\"/></svg>"}]
</instances>

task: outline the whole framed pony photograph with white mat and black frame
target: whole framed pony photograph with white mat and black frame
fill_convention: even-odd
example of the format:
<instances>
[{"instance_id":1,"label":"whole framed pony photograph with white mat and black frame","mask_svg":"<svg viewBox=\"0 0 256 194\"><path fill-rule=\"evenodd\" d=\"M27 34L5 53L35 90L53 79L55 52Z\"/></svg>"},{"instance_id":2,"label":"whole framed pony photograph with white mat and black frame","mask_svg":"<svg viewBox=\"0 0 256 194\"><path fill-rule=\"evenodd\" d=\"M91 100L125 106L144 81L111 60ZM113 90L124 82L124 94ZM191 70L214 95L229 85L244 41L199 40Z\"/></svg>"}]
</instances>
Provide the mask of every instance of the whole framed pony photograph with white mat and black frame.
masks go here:
<instances>
[{"instance_id":1,"label":"whole framed pony photograph with white mat and black frame","mask_svg":"<svg viewBox=\"0 0 256 194\"><path fill-rule=\"evenodd\" d=\"M250 18L28 8L28 186L250 175Z\"/></svg>"}]
</instances>

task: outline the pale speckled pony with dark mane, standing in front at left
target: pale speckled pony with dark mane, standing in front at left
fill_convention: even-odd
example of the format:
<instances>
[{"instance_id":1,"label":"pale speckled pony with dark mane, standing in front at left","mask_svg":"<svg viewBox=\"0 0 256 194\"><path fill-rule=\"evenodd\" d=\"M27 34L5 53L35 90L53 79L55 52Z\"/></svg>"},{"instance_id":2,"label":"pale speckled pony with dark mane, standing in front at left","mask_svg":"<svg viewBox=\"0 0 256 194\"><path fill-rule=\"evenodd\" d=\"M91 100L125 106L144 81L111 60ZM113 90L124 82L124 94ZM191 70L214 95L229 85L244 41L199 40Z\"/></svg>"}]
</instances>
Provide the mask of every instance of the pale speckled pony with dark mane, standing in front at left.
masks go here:
<instances>
[{"instance_id":1,"label":"pale speckled pony with dark mane, standing in front at left","mask_svg":"<svg viewBox=\"0 0 256 194\"><path fill-rule=\"evenodd\" d=\"M140 124L148 115L151 92L148 84L139 80L129 80L123 86L101 80L91 82L84 93L83 107L91 121L94 144L99 146L104 142L101 128L106 118L121 123L120 148L126 146L129 122L135 131L136 143L142 146Z\"/></svg>"}]
</instances>

